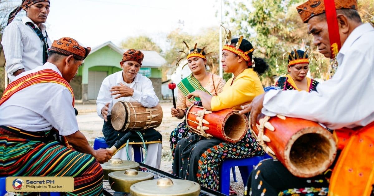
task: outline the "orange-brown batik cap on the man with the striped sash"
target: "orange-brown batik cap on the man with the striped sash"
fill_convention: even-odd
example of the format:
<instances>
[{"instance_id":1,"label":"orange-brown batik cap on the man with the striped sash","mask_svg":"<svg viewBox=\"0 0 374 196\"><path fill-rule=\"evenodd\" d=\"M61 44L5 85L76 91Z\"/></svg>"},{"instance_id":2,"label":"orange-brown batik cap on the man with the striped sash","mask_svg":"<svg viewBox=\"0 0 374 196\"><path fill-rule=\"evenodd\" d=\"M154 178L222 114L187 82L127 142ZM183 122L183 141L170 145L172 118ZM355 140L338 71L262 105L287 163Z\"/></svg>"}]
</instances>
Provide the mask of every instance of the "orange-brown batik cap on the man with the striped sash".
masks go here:
<instances>
[{"instance_id":1,"label":"orange-brown batik cap on the man with the striped sash","mask_svg":"<svg viewBox=\"0 0 374 196\"><path fill-rule=\"evenodd\" d=\"M83 47L77 40L70 37L62 37L54 40L49 49L50 52L56 52L65 56L73 55L76 60L84 60L91 52L90 47Z\"/></svg>"}]
</instances>

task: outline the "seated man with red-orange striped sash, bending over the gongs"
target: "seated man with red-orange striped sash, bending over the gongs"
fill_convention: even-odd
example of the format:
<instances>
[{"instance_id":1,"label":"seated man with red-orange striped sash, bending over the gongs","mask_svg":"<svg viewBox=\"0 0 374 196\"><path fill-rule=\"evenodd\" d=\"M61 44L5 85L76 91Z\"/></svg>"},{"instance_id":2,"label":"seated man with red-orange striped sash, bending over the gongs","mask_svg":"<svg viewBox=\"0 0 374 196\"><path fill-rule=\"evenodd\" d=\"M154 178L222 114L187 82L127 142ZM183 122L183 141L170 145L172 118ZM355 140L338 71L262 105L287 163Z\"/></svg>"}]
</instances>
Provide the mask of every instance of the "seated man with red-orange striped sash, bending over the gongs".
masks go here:
<instances>
[{"instance_id":1,"label":"seated man with red-orange striped sash, bending over the gongs","mask_svg":"<svg viewBox=\"0 0 374 196\"><path fill-rule=\"evenodd\" d=\"M91 48L55 40L47 63L23 72L0 100L0 176L74 177L72 195L101 195L110 150L93 150L79 131L69 82Z\"/></svg>"}]
</instances>

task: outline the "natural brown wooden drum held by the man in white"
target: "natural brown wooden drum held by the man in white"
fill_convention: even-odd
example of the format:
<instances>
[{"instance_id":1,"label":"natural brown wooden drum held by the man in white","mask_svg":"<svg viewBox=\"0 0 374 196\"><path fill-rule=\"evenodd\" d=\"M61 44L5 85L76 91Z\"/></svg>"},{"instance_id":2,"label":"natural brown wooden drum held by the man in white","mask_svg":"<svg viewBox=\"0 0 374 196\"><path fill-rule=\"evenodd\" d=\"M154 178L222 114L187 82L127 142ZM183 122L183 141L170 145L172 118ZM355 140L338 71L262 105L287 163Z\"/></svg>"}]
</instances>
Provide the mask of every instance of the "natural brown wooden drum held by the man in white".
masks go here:
<instances>
[{"instance_id":1,"label":"natural brown wooden drum held by the man in white","mask_svg":"<svg viewBox=\"0 0 374 196\"><path fill-rule=\"evenodd\" d=\"M112 108L110 120L117 131L154 128L162 122L162 108L160 104L146 108L139 102L119 101Z\"/></svg>"}]
</instances>

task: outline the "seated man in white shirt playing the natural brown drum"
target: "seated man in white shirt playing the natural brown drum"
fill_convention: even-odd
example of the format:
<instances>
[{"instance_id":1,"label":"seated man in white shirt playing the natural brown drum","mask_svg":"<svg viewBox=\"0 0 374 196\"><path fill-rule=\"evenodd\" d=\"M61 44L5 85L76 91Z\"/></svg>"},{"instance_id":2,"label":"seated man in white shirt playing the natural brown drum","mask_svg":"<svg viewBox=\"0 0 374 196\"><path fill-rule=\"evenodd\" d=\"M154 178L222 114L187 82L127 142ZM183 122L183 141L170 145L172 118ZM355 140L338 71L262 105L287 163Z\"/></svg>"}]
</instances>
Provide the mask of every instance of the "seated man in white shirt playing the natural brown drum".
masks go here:
<instances>
[{"instance_id":1,"label":"seated man in white shirt playing the natural brown drum","mask_svg":"<svg viewBox=\"0 0 374 196\"><path fill-rule=\"evenodd\" d=\"M119 101L137 101L147 108L152 108L159 103L151 80L138 73L143 58L144 54L141 51L129 49L123 53L123 58L120 62L123 70L107 76L102 81L96 100L96 109L99 117L104 119L102 133L109 146L112 146L114 142L122 138L126 133L114 130L111 124L111 109L115 103ZM148 146L144 163L154 168L160 168L162 135L153 128L144 130L141 133L144 143ZM133 133L129 139L129 150L131 150L131 144L143 144L142 138L138 134ZM127 160L126 147L117 151L113 157ZM129 157L131 158L131 156Z\"/></svg>"}]
</instances>

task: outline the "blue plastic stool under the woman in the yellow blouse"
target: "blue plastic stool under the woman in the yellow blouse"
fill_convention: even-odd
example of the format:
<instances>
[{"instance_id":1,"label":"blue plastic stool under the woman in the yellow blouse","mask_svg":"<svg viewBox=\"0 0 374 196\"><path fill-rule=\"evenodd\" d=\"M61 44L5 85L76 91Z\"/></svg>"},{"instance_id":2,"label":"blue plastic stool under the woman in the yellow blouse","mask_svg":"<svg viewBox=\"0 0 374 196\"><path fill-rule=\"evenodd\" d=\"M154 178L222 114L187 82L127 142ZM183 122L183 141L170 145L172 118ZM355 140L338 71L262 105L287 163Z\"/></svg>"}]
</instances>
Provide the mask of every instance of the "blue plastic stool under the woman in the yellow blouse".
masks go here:
<instances>
[{"instance_id":1,"label":"blue plastic stool under the woman in the yellow blouse","mask_svg":"<svg viewBox=\"0 0 374 196\"><path fill-rule=\"evenodd\" d=\"M239 167L240 175L244 186L247 184L249 174L253 170L253 166L257 165L261 160L271 158L265 154L263 156L248 157L244 159L226 159L220 165L220 184L219 191L225 195L229 195L230 192L230 168ZM234 170L233 170L234 175Z\"/></svg>"}]
</instances>

